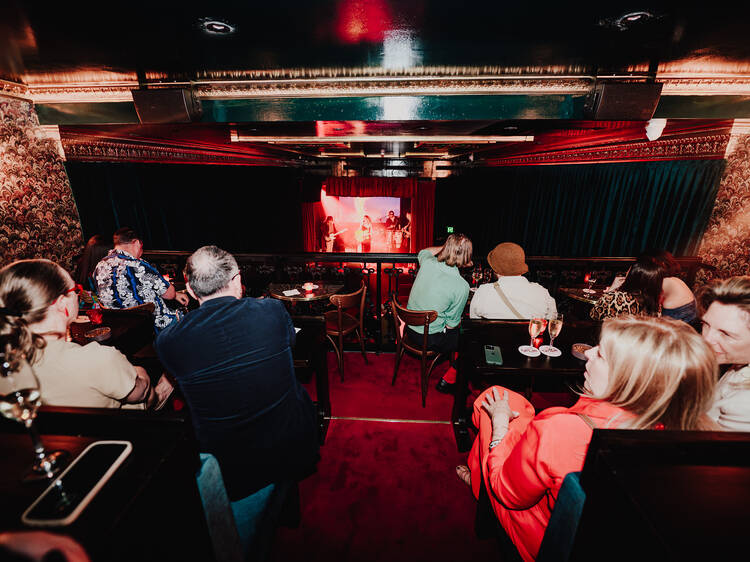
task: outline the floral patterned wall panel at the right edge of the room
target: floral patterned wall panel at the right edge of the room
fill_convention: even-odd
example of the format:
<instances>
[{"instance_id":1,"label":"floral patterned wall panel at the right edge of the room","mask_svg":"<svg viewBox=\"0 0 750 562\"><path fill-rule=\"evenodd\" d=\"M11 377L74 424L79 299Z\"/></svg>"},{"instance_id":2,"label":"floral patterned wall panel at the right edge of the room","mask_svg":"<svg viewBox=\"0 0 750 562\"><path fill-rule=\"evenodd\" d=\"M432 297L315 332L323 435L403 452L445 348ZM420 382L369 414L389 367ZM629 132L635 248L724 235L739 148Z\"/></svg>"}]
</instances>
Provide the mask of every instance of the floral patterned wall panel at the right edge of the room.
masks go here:
<instances>
[{"instance_id":1,"label":"floral patterned wall panel at the right edge of the room","mask_svg":"<svg viewBox=\"0 0 750 562\"><path fill-rule=\"evenodd\" d=\"M698 255L716 271L702 269L696 286L711 279L750 275L750 136L736 139L727 155L716 203Z\"/></svg>"}]
</instances>

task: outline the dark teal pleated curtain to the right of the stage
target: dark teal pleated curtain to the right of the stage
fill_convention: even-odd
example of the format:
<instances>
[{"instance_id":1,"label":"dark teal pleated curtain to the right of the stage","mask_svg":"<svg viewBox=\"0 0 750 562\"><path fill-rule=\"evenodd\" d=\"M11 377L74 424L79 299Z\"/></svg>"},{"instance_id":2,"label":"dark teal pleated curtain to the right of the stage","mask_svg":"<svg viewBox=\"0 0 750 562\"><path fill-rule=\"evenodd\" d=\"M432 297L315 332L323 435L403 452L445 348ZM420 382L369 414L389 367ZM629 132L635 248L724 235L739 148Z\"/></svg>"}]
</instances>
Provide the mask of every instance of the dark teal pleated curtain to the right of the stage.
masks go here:
<instances>
[{"instance_id":1,"label":"dark teal pleated curtain to the right of the stage","mask_svg":"<svg viewBox=\"0 0 750 562\"><path fill-rule=\"evenodd\" d=\"M475 252L516 242L529 255L695 255L723 160L485 169L438 180L436 228L464 232Z\"/></svg>"}]
</instances>

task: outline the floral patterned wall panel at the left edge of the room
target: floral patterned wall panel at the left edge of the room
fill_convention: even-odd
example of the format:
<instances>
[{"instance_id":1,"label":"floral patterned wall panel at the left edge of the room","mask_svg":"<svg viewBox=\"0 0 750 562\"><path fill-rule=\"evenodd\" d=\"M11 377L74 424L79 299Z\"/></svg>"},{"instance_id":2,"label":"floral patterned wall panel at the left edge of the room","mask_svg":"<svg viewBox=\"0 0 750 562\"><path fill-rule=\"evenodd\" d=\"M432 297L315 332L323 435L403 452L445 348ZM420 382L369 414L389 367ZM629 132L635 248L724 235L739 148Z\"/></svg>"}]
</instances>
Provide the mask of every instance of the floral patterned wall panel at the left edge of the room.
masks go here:
<instances>
[{"instance_id":1,"label":"floral patterned wall panel at the left edge of the room","mask_svg":"<svg viewBox=\"0 0 750 562\"><path fill-rule=\"evenodd\" d=\"M0 96L0 265L48 258L68 270L83 235L70 182L34 106Z\"/></svg>"}]
</instances>

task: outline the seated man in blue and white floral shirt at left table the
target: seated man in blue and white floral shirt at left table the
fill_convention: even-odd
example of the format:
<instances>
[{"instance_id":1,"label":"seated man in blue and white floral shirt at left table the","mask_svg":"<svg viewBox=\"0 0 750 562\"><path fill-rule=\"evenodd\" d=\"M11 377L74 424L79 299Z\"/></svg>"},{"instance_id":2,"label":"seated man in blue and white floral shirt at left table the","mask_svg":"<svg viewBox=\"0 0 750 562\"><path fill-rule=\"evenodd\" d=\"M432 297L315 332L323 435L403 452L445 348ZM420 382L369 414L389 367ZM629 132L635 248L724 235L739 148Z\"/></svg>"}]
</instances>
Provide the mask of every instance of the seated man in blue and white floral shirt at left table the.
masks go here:
<instances>
[{"instance_id":1,"label":"seated man in blue and white floral shirt at left table the","mask_svg":"<svg viewBox=\"0 0 750 562\"><path fill-rule=\"evenodd\" d=\"M179 319L179 313L169 308L164 299L176 299L187 305L188 296L178 293L157 269L145 260L143 242L129 227L123 227L113 236L114 249L99 262L94 270L97 293L107 308L130 308L152 302L154 328L157 332Z\"/></svg>"}]
</instances>

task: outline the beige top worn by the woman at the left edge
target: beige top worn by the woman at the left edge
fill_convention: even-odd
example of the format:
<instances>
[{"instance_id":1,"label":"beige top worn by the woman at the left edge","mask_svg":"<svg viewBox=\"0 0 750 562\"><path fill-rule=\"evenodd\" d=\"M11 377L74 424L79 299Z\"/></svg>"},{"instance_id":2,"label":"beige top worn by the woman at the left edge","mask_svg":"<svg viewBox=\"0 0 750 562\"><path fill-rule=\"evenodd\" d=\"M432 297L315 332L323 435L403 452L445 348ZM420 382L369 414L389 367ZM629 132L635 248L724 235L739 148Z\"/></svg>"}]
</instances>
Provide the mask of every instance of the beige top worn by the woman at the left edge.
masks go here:
<instances>
[{"instance_id":1,"label":"beige top worn by the woman at the left edge","mask_svg":"<svg viewBox=\"0 0 750 562\"><path fill-rule=\"evenodd\" d=\"M33 368L42 404L50 406L119 408L137 377L135 367L114 347L63 339L47 340Z\"/></svg>"}]
</instances>

